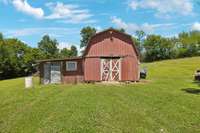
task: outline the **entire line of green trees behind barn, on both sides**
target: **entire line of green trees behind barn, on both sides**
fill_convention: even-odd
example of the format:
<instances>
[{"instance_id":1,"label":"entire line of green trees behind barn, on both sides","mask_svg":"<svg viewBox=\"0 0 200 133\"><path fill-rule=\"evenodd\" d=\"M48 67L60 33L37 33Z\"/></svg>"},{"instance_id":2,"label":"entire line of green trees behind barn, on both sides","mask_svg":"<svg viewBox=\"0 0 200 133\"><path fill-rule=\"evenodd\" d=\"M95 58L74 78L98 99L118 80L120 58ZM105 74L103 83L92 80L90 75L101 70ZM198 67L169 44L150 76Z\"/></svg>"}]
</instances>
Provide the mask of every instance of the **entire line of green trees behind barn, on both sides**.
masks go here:
<instances>
[{"instance_id":1,"label":"entire line of green trees behind barn, on both sides","mask_svg":"<svg viewBox=\"0 0 200 133\"><path fill-rule=\"evenodd\" d=\"M124 29L117 29L125 33ZM84 49L97 30L84 27L80 31L80 48ZM146 34L136 31L132 36L142 62L200 56L200 32L182 32L177 37ZM4 38L0 33L0 79L27 76L37 71L36 61L41 59L67 58L78 55L76 46L58 48L56 39L48 35L42 37L36 48L16 38ZM81 51L81 53L83 53Z\"/></svg>"}]
</instances>

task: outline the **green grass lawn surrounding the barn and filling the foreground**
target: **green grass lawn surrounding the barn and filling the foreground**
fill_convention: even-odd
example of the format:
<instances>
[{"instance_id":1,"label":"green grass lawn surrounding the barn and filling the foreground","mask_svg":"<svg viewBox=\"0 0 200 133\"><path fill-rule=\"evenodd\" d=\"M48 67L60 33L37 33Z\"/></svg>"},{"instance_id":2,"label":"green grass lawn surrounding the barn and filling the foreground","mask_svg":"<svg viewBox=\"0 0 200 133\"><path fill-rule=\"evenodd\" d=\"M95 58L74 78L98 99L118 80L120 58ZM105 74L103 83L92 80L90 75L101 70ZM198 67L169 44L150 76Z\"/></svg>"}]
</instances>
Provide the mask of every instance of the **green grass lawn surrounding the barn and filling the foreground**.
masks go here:
<instances>
[{"instance_id":1,"label":"green grass lawn surrounding the barn and filling the foreground","mask_svg":"<svg viewBox=\"0 0 200 133\"><path fill-rule=\"evenodd\" d=\"M0 81L0 133L199 133L200 57L143 66L148 79L128 85Z\"/></svg>"}]
</instances>

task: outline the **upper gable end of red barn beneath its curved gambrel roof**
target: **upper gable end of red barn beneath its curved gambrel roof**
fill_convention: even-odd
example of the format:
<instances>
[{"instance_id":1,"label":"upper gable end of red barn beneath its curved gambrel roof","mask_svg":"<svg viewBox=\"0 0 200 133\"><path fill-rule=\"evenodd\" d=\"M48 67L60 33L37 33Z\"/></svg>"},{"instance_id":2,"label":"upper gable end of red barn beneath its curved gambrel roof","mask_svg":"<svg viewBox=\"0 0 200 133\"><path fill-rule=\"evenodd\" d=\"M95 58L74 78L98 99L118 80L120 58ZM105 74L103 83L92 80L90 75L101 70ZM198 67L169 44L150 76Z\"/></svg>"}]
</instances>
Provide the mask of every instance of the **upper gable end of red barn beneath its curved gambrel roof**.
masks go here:
<instances>
[{"instance_id":1,"label":"upper gable end of red barn beneath its curved gambrel roof","mask_svg":"<svg viewBox=\"0 0 200 133\"><path fill-rule=\"evenodd\" d=\"M112 55L131 55L139 58L139 53L131 36L112 28L94 35L84 53L85 57Z\"/></svg>"}]
</instances>

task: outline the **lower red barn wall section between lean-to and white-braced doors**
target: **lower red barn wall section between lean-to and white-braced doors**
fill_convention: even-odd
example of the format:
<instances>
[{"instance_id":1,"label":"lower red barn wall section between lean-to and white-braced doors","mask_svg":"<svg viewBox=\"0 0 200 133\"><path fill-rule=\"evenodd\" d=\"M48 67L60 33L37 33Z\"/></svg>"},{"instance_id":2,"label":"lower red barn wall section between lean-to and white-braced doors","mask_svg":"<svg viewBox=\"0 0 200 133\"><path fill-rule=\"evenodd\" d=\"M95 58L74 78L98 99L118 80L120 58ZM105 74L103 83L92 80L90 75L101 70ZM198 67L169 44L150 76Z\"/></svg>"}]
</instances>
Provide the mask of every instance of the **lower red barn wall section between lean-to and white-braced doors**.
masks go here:
<instances>
[{"instance_id":1,"label":"lower red barn wall section between lean-to and white-braced doors","mask_svg":"<svg viewBox=\"0 0 200 133\"><path fill-rule=\"evenodd\" d=\"M99 58L85 58L84 63L84 80L85 81L100 81L101 68Z\"/></svg>"}]
</instances>

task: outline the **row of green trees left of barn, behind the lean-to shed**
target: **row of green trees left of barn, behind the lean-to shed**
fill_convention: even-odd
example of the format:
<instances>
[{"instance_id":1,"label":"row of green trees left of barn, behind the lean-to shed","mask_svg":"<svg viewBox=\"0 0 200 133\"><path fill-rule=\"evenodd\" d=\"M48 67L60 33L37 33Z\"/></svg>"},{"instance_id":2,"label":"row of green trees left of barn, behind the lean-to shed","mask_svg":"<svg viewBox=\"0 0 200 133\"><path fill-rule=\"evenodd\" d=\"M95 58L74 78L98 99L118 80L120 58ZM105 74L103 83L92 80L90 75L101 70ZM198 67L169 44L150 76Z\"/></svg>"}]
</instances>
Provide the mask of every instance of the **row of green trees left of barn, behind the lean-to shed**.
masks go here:
<instances>
[{"instance_id":1,"label":"row of green trees left of barn, behind the lean-to shed","mask_svg":"<svg viewBox=\"0 0 200 133\"><path fill-rule=\"evenodd\" d=\"M0 33L0 79L27 76L37 71L37 60L77 56L76 46L58 49L56 39L43 36L36 48Z\"/></svg>"}]
</instances>

